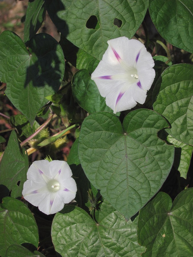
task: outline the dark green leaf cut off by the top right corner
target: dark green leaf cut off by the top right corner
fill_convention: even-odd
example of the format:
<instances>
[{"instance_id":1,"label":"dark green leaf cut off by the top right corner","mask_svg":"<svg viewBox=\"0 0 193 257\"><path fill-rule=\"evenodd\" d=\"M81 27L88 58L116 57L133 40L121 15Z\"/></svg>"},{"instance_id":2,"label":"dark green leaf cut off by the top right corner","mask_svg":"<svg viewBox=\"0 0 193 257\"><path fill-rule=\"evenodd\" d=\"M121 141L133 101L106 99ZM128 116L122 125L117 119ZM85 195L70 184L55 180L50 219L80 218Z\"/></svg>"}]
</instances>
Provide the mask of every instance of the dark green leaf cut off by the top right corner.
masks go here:
<instances>
[{"instance_id":1,"label":"dark green leaf cut off by the top right corner","mask_svg":"<svg viewBox=\"0 0 193 257\"><path fill-rule=\"evenodd\" d=\"M156 29L166 41L193 52L192 0L150 0L149 11Z\"/></svg>"}]
</instances>

